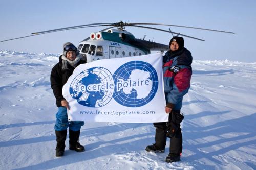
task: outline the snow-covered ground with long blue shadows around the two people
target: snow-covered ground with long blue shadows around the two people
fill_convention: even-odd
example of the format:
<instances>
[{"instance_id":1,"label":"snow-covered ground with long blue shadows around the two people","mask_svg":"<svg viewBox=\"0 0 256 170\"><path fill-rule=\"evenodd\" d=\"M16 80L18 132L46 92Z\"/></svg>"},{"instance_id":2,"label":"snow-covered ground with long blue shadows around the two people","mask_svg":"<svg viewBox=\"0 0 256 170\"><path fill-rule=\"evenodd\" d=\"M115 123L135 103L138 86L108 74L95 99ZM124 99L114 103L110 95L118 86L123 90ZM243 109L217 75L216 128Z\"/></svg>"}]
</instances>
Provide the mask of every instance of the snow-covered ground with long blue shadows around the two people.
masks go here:
<instances>
[{"instance_id":1,"label":"snow-covered ground with long blue shadows around the two people","mask_svg":"<svg viewBox=\"0 0 256 170\"><path fill-rule=\"evenodd\" d=\"M88 122L80 143L55 157L57 54L0 51L0 169L256 169L256 63L194 61L182 112L180 162L148 153L151 123ZM168 140L169 141L169 140Z\"/></svg>"}]
</instances>

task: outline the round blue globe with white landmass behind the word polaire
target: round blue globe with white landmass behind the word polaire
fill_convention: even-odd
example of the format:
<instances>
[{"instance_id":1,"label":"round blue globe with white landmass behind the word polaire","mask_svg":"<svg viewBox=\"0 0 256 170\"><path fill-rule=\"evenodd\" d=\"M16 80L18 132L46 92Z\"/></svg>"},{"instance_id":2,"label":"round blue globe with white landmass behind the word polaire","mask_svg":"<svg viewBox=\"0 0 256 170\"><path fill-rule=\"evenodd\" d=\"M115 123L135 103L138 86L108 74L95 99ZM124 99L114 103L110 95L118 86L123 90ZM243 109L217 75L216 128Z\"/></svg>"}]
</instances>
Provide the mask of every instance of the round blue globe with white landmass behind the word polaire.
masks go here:
<instances>
[{"instance_id":1,"label":"round blue globe with white landmass behind the word polaire","mask_svg":"<svg viewBox=\"0 0 256 170\"><path fill-rule=\"evenodd\" d=\"M150 102L158 89L155 68L143 61L131 61L121 65L113 75L113 98L127 107L140 107Z\"/></svg>"}]
</instances>

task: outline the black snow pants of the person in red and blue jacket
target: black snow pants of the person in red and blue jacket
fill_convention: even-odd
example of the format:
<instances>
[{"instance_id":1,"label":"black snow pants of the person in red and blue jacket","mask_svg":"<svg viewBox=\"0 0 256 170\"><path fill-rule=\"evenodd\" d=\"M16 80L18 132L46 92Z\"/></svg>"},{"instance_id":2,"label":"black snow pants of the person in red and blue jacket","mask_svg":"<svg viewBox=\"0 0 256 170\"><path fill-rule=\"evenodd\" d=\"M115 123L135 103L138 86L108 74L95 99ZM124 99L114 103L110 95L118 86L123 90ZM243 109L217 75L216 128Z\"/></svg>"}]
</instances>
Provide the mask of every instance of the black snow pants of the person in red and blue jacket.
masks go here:
<instances>
[{"instance_id":1,"label":"black snow pants of the person in red and blue jacket","mask_svg":"<svg viewBox=\"0 0 256 170\"><path fill-rule=\"evenodd\" d=\"M168 122L154 123L156 127L155 141L157 147L165 149L167 137L170 137L170 153L182 153L182 133L180 123L184 116L180 114L180 110L172 110L169 113Z\"/></svg>"}]
</instances>

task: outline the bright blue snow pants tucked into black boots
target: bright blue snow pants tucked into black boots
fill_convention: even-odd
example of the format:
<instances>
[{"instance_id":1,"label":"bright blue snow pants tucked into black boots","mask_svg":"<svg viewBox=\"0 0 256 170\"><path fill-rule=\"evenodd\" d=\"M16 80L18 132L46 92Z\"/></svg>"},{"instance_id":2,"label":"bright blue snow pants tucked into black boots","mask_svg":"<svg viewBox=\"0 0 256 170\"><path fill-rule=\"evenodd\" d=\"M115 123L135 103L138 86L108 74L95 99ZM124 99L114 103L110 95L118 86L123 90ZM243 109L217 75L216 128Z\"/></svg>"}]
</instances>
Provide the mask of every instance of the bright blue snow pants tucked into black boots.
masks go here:
<instances>
[{"instance_id":1,"label":"bright blue snow pants tucked into black boots","mask_svg":"<svg viewBox=\"0 0 256 170\"><path fill-rule=\"evenodd\" d=\"M72 131L80 131L81 126L83 126L83 121L70 121L68 120L68 113L66 107L59 107L56 113L56 123L54 126L55 131L67 130L68 127Z\"/></svg>"}]
</instances>

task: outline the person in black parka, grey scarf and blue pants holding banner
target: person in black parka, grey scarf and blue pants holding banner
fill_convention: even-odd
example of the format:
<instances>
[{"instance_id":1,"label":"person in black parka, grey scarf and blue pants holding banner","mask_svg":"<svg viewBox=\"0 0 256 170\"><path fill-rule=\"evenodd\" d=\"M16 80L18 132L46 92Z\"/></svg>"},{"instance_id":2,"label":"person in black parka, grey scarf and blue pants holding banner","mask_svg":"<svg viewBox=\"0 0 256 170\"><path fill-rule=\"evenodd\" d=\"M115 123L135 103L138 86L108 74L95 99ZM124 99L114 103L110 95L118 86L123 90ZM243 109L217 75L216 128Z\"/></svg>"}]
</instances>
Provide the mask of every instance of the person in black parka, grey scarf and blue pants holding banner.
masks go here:
<instances>
[{"instance_id":1,"label":"person in black parka, grey scarf and blue pants holding banner","mask_svg":"<svg viewBox=\"0 0 256 170\"><path fill-rule=\"evenodd\" d=\"M80 55L77 55L76 47L72 43L67 42L63 45L63 54L59 57L59 62L51 71L51 87L58 107L54 126L57 141L57 157L64 155L68 127L69 149L77 152L84 151L84 147L78 142L80 129L84 123L82 121L68 121L67 109L69 109L69 103L62 95L63 85L65 85L69 77L73 74L74 69L79 64L84 63L86 63L86 61L82 60Z\"/></svg>"}]
</instances>

